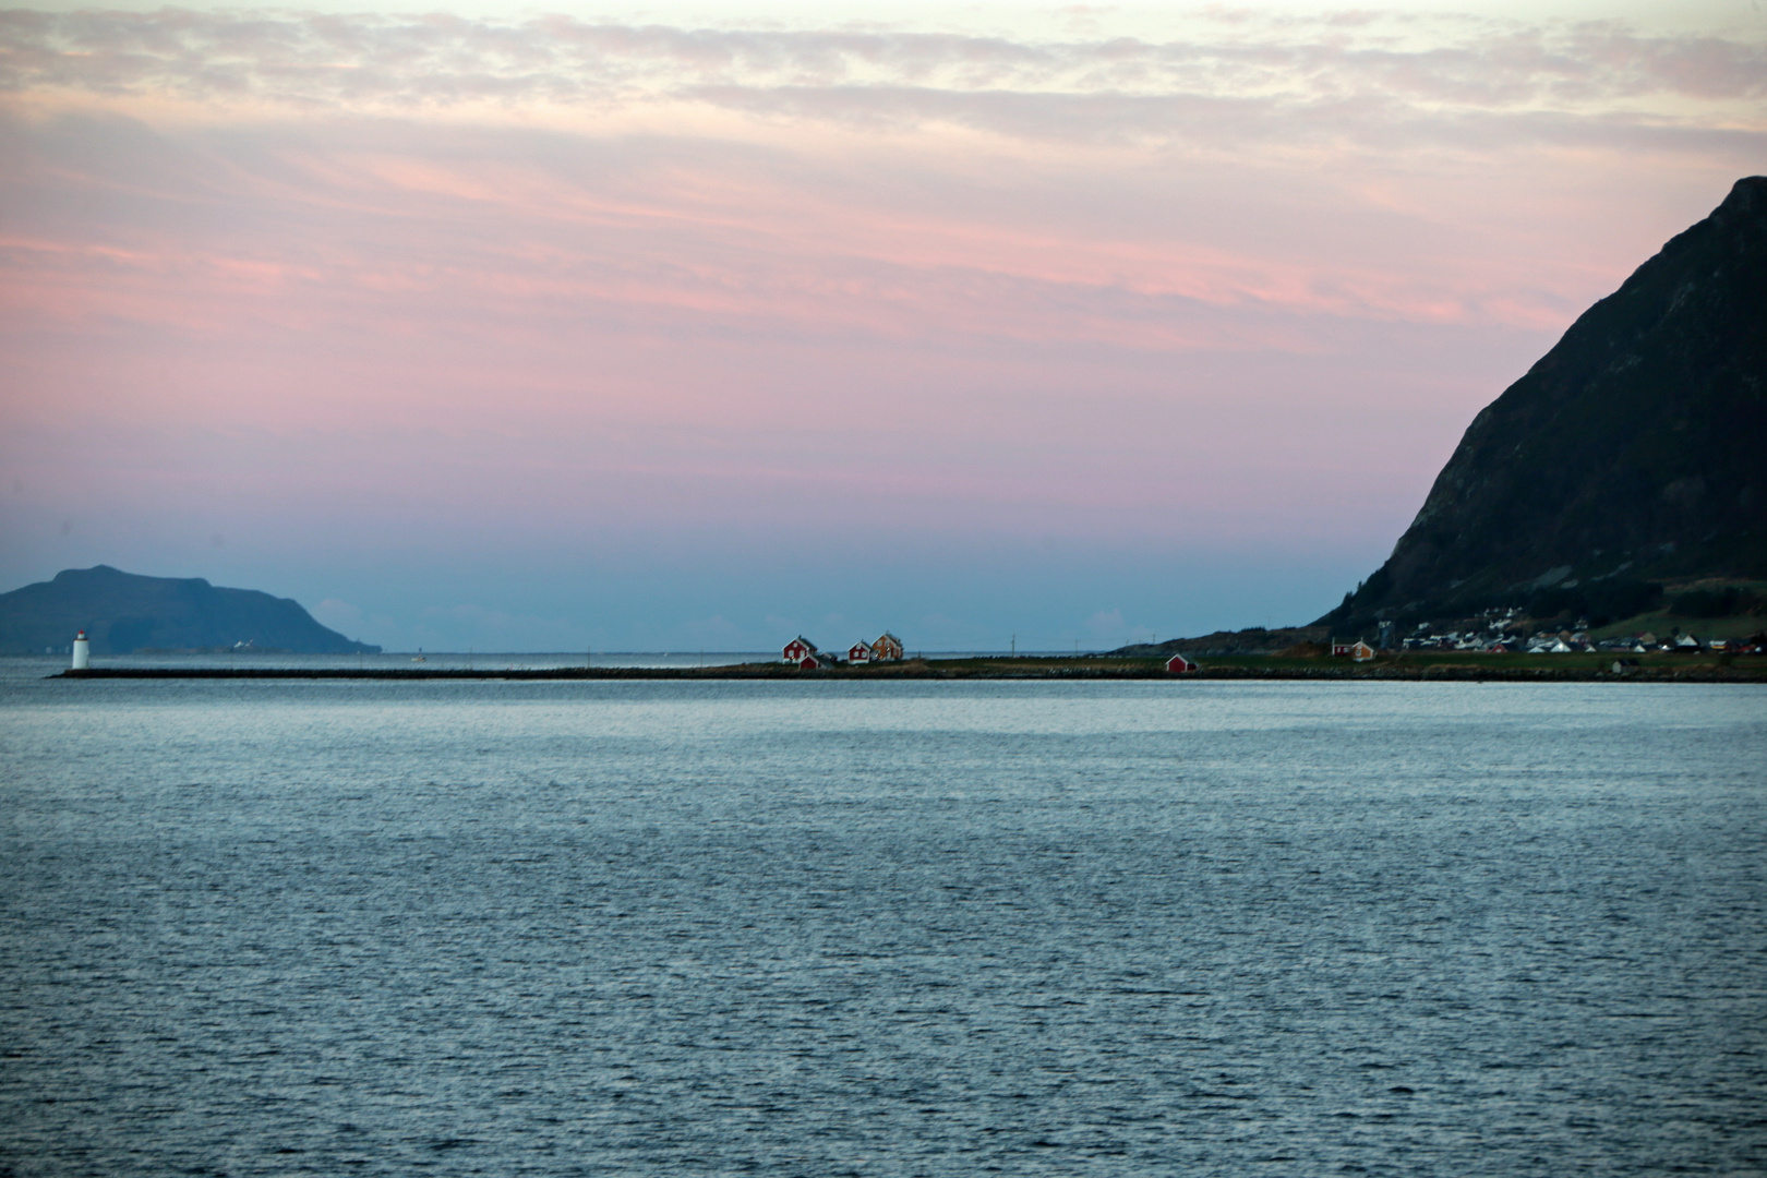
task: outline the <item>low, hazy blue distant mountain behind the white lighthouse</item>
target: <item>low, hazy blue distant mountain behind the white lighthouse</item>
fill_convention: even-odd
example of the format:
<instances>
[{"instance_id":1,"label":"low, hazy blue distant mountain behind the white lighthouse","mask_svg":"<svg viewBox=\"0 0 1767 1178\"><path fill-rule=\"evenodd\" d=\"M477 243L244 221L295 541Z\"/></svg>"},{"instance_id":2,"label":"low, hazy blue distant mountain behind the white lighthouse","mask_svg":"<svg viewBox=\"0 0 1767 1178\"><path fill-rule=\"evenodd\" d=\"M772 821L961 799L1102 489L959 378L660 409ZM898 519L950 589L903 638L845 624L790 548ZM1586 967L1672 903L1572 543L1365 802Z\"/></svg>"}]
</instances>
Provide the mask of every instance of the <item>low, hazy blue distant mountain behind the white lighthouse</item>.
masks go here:
<instances>
[{"instance_id":1,"label":"low, hazy blue distant mountain behind the white lighthouse","mask_svg":"<svg viewBox=\"0 0 1767 1178\"><path fill-rule=\"evenodd\" d=\"M299 602L201 578L141 578L110 565L0 593L0 653L67 650L85 631L94 655L251 643L306 655L376 653L313 620Z\"/></svg>"}]
</instances>

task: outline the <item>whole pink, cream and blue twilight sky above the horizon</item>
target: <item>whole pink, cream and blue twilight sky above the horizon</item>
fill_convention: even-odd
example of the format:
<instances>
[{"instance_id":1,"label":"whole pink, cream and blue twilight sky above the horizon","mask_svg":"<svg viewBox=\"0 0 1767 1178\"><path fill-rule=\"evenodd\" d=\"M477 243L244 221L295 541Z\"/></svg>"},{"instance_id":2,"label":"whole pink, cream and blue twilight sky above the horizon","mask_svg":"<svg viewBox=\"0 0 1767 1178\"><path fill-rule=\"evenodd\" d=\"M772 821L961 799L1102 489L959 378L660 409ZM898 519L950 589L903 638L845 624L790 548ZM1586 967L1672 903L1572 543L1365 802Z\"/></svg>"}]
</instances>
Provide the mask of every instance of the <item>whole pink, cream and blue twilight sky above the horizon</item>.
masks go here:
<instances>
[{"instance_id":1,"label":"whole pink, cream and blue twilight sky above the horizon","mask_svg":"<svg viewBox=\"0 0 1767 1178\"><path fill-rule=\"evenodd\" d=\"M396 650L1304 623L1767 171L1760 0L364 4L0 11L0 590Z\"/></svg>"}]
</instances>

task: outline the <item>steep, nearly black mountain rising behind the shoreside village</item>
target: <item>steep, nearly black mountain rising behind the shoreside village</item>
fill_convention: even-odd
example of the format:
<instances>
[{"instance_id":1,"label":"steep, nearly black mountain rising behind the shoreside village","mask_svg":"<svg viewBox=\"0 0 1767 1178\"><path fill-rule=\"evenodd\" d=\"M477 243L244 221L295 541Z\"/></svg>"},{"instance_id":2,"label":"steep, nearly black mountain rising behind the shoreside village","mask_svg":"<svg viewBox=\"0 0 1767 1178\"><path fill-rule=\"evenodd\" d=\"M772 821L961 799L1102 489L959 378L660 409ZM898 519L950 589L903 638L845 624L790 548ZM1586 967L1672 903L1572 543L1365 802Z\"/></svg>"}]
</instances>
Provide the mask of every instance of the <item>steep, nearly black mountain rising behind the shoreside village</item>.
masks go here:
<instances>
[{"instance_id":1,"label":"steep, nearly black mountain rising behind the shoreside village","mask_svg":"<svg viewBox=\"0 0 1767 1178\"><path fill-rule=\"evenodd\" d=\"M1702 578L1767 578L1767 177L1488 404L1387 563L1318 623L1624 618Z\"/></svg>"}]
</instances>

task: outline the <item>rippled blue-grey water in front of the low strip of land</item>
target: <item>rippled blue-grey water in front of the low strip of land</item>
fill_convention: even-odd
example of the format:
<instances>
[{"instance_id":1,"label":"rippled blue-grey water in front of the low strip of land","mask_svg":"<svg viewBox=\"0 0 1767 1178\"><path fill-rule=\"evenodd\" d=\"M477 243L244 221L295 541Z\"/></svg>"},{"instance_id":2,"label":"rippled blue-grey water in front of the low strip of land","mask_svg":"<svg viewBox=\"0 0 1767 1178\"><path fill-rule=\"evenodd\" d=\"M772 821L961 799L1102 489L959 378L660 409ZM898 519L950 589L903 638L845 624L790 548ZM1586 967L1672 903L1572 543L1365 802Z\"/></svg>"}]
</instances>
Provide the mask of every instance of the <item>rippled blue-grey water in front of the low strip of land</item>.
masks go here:
<instances>
[{"instance_id":1,"label":"rippled blue-grey water in front of the low strip of land","mask_svg":"<svg viewBox=\"0 0 1767 1178\"><path fill-rule=\"evenodd\" d=\"M1762 689L0 692L0 1173L1767 1171Z\"/></svg>"}]
</instances>

